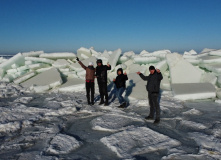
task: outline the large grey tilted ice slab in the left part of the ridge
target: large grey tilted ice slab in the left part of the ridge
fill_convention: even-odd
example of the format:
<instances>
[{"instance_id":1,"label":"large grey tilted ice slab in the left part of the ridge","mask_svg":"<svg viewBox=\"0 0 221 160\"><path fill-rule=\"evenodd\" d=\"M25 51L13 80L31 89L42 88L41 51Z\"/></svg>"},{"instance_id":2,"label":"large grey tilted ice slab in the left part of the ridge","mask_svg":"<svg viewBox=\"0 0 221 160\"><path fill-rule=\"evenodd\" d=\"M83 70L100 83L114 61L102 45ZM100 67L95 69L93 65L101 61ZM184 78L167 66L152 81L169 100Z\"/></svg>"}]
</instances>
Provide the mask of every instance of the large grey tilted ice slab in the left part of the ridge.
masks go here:
<instances>
[{"instance_id":1,"label":"large grey tilted ice slab in the left part of the ridge","mask_svg":"<svg viewBox=\"0 0 221 160\"><path fill-rule=\"evenodd\" d=\"M31 86L49 86L50 88L54 88L58 85L62 84L62 79L60 73L56 68L49 69L45 72L38 74L37 76L30 78L29 80L21 83L23 87L31 87Z\"/></svg>"}]
</instances>

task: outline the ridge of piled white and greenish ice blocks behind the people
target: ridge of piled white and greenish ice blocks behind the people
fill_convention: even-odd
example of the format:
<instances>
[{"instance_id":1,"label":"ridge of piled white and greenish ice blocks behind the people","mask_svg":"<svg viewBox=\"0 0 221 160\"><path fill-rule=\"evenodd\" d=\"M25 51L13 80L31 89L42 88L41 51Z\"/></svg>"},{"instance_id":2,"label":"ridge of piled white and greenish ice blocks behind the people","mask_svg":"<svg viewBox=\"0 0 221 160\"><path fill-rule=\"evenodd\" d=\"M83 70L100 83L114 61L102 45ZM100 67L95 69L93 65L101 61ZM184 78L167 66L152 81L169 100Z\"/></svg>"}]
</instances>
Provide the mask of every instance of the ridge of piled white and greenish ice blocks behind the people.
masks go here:
<instances>
[{"instance_id":1,"label":"ridge of piled white and greenish ice blocks behind the people","mask_svg":"<svg viewBox=\"0 0 221 160\"><path fill-rule=\"evenodd\" d=\"M0 58L0 81L19 84L30 92L73 92L85 89L85 70L76 62L76 57L87 66L102 59L112 66L108 72L108 84L117 76L118 68L128 74L126 99L146 99L146 82L136 74L148 75L149 66L160 69L164 79L162 91L172 91L180 100L220 99L221 50L205 48L201 53L185 51L183 55L170 50L140 54L133 51L95 51L93 47L81 47L77 54L71 52L44 53L31 51L18 53L10 59ZM96 84L97 87L97 84ZM189 88L189 89L187 89ZM112 88L113 89L113 88ZM218 102L218 101L217 101Z\"/></svg>"}]
</instances>

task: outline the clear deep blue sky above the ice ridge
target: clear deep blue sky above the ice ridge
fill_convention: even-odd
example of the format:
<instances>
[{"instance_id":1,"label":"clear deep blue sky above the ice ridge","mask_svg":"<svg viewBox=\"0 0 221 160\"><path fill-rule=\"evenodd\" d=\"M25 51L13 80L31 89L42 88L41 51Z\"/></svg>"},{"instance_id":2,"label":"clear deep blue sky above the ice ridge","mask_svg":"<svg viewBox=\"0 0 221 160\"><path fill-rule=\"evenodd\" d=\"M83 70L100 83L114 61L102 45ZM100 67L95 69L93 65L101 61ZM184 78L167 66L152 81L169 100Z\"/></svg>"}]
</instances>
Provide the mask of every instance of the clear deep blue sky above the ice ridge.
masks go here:
<instances>
[{"instance_id":1,"label":"clear deep blue sky above the ice ridge","mask_svg":"<svg viewBox=\"0 0 221 160\"><path fill-rule=\"evenodd\" d=\"M0 0L0 54L221 48L221 0Z\"/></svg>"}]
</instances>

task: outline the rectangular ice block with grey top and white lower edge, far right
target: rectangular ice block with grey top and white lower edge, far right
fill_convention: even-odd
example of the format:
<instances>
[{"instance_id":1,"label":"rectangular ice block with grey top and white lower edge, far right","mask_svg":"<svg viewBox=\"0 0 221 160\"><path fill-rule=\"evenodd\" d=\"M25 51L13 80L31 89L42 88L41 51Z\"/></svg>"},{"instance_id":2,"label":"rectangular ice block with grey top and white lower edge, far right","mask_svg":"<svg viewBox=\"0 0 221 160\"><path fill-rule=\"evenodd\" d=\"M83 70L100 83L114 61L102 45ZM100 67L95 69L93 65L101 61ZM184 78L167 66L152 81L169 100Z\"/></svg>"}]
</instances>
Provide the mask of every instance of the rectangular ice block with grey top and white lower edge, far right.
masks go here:
<instances>
[{"instance_id":1,"label":"rectangular ice block with grey top and white lower edge, far right","mask_svg":"<svg viewBox=\"0 0 221 160\"><path fill-rule=\"evenodd\" d=\"M216 89L211 83L171 84L174 98L180 100L197 100L216 97Z\"/></svg>"}]
</instances>

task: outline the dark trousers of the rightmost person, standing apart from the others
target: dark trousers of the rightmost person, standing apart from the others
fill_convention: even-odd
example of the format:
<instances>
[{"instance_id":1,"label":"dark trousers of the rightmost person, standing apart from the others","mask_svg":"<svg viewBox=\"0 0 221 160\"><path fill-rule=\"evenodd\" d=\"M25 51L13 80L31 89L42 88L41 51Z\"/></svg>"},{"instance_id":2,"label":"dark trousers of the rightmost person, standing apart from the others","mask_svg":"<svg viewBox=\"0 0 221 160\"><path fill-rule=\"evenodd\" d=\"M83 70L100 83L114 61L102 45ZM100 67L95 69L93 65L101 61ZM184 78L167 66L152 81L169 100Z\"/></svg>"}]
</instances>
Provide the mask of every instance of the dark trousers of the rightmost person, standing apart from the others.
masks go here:
<instances>
[{"instance_id":1,"label":"dark trousers of the rightmost person, standing apart from the others","mask_svg":"<svg viewBox=\"0 0 221 160\"><path fill-rule=\"evenodd\" d=\"M159 105L159 93L148 93L150 114L149 116L154 117L156 111L156 119L160 119L160 105Z\"/></svg>"}]
</instances>

